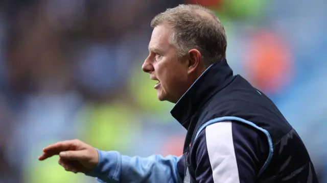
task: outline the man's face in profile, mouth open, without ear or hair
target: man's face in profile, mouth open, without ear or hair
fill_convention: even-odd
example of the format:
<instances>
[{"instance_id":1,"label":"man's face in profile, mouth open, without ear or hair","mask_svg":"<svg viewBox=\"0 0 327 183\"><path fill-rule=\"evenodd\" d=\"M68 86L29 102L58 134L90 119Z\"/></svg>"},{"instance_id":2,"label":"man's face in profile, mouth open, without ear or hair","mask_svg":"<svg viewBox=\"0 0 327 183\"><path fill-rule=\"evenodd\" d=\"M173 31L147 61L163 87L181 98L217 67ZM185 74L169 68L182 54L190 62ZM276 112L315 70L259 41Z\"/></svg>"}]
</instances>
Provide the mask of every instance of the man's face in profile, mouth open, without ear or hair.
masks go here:
<instances>
[{"instance_id":1,"label":"man's face in profile, mouth open, without ear or hair","mask_svg":"<svg viewBox=\"0 0 327 183\"><path fill-rule=\"evenodd\" d=\"M149 43L150 54L142 69L150 73L152 80L158 83L154 86L159 100L176 103L192 85L188 81L188 61L178 59L176 48L169 43L171 28L158 25L154 28Z\"/></svg>"}]
</instances>

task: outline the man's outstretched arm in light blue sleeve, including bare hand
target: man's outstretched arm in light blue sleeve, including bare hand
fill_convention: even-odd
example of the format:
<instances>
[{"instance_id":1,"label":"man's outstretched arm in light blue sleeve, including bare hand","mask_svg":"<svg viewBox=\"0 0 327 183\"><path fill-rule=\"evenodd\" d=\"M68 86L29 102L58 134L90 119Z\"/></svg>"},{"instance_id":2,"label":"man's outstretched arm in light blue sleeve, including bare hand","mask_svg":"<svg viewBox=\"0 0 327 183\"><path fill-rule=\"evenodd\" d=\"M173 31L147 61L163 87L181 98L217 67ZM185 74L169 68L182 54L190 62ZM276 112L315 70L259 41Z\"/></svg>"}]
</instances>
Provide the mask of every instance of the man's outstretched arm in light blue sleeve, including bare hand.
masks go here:
<instances>
[{"instance_id":1,"label":"man's outstretched arm in light blue sleeve, including bare hand","mask_svg":"<svg viewBox=\"0 0 327 183\"><path fill-rule=\"evenodd\" d=\"M182 158L152 155L129 157L116 151L100 151L79 140L63 141L43 149L39 160L59 155L58 163L67 171L97 177L100 182L177 183L183 172ZM178 171L180 167L181 171Z\"/></svg>"}]
</instances>

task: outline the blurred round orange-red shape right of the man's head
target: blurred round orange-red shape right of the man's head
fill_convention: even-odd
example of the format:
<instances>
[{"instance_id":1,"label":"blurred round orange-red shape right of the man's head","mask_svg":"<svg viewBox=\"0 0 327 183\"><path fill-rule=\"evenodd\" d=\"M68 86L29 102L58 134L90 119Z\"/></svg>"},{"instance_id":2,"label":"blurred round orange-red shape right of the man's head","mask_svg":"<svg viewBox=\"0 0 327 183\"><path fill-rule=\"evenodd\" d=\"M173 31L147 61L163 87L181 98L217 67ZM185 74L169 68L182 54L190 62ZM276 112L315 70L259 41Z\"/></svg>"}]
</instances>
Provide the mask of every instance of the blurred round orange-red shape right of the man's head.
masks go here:
<instances>
[{"instance_id":1,"label":"blurred round orange-red shape right of the man's head","mask_svg":"<svg viewBox=\"0 0 327 183\"><path fill-rule=\"evenodd\" d=\"M289 48L268 31L254 33L244 61L250 81L267 94L285 90L293 77Z\"/></svg>"}]
</instances>

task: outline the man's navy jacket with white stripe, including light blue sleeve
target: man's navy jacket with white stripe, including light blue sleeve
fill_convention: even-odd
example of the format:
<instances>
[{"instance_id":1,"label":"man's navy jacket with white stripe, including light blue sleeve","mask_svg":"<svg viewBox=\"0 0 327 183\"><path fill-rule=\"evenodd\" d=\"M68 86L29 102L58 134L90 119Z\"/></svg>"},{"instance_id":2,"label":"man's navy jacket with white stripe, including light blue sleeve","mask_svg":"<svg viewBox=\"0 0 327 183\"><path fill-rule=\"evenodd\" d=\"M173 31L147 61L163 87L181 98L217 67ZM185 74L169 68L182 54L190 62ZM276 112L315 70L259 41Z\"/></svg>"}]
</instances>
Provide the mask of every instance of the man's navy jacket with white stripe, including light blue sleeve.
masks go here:
<instances>
[{"instance_id":1,"label":"man's navy jacket with white stripe, including light blue sleeve","mask_svg":"<svg viewBox=\"0 0 327 183\"><path fill-rule=\"evenodd\" d=\"M188 130L182 156L98 151L87 175L100 182L318 182L292 126L226 60L206 69L171 114Z\"/></svg>"}]
</instances>

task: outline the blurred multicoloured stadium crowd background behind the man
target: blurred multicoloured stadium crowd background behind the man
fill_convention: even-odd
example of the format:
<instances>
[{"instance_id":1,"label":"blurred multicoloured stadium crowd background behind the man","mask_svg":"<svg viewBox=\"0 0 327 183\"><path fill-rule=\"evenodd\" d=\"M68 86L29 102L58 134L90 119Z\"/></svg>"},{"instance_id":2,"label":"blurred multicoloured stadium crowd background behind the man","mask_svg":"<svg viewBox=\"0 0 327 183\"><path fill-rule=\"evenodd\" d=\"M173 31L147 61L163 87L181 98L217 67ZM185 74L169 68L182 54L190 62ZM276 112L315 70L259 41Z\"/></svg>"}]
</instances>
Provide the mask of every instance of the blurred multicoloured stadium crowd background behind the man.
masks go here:
<instances>
[{"instance_id":1,"label":"blurred multicoloured stadium crowd background behind the man","mask_svg":"<svg viewBox=\"0 0 327 183\"><path fill-rule=\"evenodd\" d=\"M182 153L185 130L142 72L154 15L182 3L213 9L227 61L269 95L327 182L327 1L0 1L0 183L92 183L44 146L78 138L102 150Z\"/></svg>"}]
</instances>

